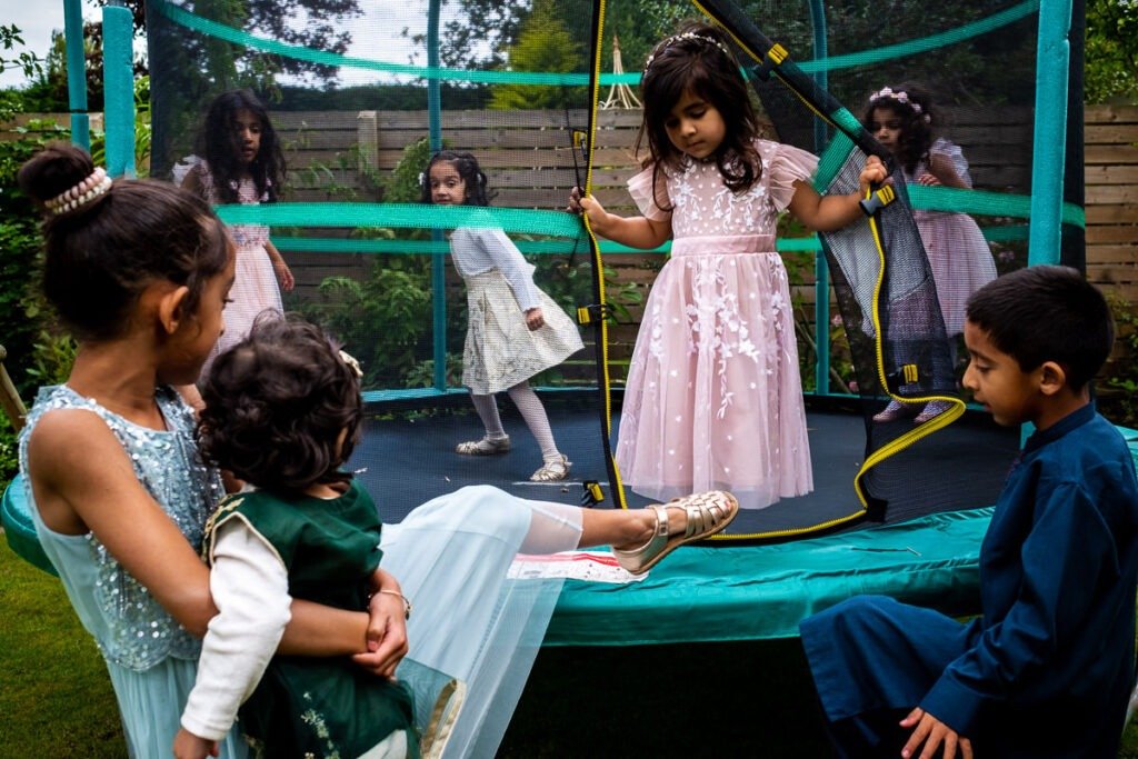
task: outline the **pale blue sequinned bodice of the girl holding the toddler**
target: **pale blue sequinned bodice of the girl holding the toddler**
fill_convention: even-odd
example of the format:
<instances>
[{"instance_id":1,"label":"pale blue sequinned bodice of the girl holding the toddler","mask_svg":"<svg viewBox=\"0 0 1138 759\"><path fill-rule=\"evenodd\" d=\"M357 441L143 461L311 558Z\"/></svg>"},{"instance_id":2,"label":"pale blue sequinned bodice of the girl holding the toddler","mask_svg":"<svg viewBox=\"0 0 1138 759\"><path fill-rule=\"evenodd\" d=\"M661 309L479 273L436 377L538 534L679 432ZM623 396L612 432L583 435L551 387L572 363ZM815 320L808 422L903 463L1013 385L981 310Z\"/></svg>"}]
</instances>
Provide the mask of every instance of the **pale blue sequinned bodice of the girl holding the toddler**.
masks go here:
<instances>
[{"instance_id":1,"label":"pale blue sequinned bodice of the girl holding the toddler","mask_svg":"<svg viewBox=\"0 0 1138 759\"><path fill-rule=\"evenodd\" d=\"M20 470L28 482L27 440L44 413L56 409L91 411L118 438L142 486L195 551L200 551L206 519L222 495L221 478L198 457L189 406L165 387L158 389L157 402L166 430L139 427L65 385L43 388L20 436ZM197 659L200 643L123 570L93 534L61 535L48 529L39 517L30 484L27 502L44 552L56 566L84 627L109 661L145 670L166 657Z\"/></svg>"}]
</instances>

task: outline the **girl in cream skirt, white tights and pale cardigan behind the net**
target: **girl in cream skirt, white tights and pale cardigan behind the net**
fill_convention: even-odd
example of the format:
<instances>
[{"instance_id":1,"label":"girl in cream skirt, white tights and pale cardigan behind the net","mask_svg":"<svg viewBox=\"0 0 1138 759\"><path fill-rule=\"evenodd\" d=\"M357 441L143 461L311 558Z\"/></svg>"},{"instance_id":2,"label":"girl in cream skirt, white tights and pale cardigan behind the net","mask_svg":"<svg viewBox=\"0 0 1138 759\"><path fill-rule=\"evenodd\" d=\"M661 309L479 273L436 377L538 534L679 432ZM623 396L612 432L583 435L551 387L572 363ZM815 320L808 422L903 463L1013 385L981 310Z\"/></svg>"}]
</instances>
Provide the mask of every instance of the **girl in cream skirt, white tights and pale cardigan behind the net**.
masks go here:
<instances>
[{"instance_id":1,"label":"girl in cream skirt, white tights and pale cardigan behind the net","mask_svg":"<svg viewBox=\"0 0 1138 759\"><path fill-rule=\"evenodd\" d=\"M423 203L486 206L486 174L469 152L443 150L423 176ZM571 462L558 449L542 401L529 378L556 366L584 346L577 325L534 284L534 265L505 232L467 226L451 234L451 257L467 284L467 343L462 383L470 388L485 435L455 451L489 456L510 449L494 394L505 390L542 448L542 467L531 480L552 482L569 475Z\"/></svg>"}]
</instances>

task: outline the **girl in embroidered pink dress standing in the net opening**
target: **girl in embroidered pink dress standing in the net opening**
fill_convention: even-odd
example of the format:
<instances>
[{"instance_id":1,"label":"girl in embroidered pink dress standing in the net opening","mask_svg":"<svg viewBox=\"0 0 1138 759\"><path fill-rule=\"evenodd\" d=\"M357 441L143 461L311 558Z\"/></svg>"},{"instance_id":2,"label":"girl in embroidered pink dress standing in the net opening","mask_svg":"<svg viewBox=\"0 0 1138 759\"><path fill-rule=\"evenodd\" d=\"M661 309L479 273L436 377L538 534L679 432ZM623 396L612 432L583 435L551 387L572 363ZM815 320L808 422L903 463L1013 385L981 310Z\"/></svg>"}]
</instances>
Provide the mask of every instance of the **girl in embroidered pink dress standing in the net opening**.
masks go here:
<instances>
[{"instance_id":1,"label":"girl in embroidered pink dress standing in the net opening","mask_svg":"<svg viewBox=\"0 0 1138 759\"><path fill-rule=\"evenodd\" d=\"M739 61L717 28L660 42L642 81L650 157L628 181L643 216L575 190L594 232L671 257L644 308L625 389L617 467L633 490L670 498L710 487L762 509L814 487L778 214L814 230L859 218L863 195L819 196L817 158L759 138ZM866 162L863 189L885 179Z\"/></svg>"}]
</instances>

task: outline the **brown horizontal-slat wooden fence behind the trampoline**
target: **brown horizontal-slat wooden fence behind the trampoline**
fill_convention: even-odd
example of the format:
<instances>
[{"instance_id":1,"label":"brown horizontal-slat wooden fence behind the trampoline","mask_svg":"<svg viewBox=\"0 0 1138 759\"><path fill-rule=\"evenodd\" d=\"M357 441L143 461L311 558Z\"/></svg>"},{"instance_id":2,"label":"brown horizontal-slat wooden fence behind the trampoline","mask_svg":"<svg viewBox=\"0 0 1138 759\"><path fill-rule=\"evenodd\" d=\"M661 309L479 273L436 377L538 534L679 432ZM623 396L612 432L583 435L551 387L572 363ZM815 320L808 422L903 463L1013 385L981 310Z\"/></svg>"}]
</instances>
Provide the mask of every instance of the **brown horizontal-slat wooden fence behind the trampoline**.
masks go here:
<instances>
[{"instance_id":1,"label":"brown horizontal-slat wooden fence behind the trampoline","mask_svg":"<svg viewBox=\"0 0 1138 759\"><path fill-rule=\"evenodd\" d=\"M17 139L16 127L46 118L67 125L66 114L22 114L0 126L0 140ZM290 199L310 201L382 199L382 185L406 146L427 134L427 112L278 112L273 123L289 163ZM951 139L968 157L978 188L1026 187L1031 145L1023 140L1032 113L1026 108L949 113ZM594 168L596 198L615 213L636 209L625 182L640 162L635 155L640 110L597 113ZM443 112L448 147L471 150L486 170L502 206L560 209L584 171L572 147L572 129L588 123L584 110ZM101 129L101 114L91 115ZM1138 108L1086 109L1087 267L1091 281L1138 299ZM346 230L330 230L333 237ZM294 256L302 287L312 288L329 270L330 257ZM320 262L320 263L318 263ZM607 262L617 283L651 275L643 259L613 256ZM659 263L659 262L657 262ZM312 278L315 281L308 282Z\"/></svg>"}]
</instances>

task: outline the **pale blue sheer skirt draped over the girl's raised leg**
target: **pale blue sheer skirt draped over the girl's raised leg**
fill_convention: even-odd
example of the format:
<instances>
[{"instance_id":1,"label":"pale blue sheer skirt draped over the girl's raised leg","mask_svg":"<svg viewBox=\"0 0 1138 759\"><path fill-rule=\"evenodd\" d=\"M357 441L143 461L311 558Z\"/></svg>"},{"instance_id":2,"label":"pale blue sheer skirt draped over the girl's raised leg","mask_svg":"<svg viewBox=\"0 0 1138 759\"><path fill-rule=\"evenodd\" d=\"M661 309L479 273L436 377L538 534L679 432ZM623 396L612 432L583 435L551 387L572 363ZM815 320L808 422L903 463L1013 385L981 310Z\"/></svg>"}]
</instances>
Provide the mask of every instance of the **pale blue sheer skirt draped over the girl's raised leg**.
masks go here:
<instances>
[{"instance_id":1,"label":"pale blue sheer skirt draped over the girl's raised leg","mask_svg":"<svg viewBox=\"0 0 1138 759\"><path fill-rule=\"evenodd\" d=\"M384 526L380 567L414 604L407 657L467 684L445 757L495 754L561 593L561 579L508 579L514 555L571 551L579 538L579 509L489 486Z\"/></svg>"}]
</instances>

